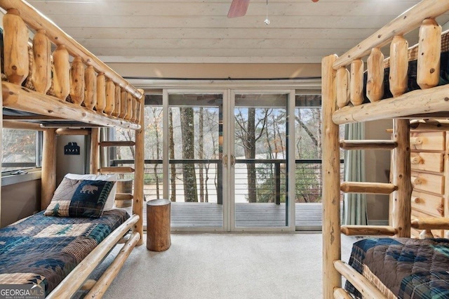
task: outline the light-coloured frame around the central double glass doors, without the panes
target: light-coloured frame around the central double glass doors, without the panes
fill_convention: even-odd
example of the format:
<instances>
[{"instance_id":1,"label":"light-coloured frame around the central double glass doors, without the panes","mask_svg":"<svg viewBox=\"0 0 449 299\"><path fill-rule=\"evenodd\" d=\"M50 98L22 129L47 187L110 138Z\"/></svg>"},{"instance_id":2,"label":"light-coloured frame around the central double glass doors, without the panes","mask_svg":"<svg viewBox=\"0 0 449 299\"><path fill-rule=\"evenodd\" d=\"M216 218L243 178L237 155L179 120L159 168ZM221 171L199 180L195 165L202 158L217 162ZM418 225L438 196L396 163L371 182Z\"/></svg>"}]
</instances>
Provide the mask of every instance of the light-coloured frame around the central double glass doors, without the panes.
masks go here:
<instances>
[{"instance_id":1,"label":"light-coloured frame around the central double glass doors, without the panes","mask_svg":"<svg viewBox=\"0 0 449 299\"><path fill-rule=\"evenodd\" d=\"M294 232L295 231L295 89L293 88L163 88L163 135L168 136L168 109L169 95L173 93L210 94L220 93L223 96L223 157L231 157L234 154L234 103L235 95L248 94L286 94L288 95L287 113L288 119L288 226L285 227L236 227L235 225L235 201L234 201L234 167L228 164L223 166L223 227L173 227L173 232ZM163 138L163 152L168 152L168 138ZM163 198L169 198L169 157L163 155Z\"/></svg>"}]
</instances>

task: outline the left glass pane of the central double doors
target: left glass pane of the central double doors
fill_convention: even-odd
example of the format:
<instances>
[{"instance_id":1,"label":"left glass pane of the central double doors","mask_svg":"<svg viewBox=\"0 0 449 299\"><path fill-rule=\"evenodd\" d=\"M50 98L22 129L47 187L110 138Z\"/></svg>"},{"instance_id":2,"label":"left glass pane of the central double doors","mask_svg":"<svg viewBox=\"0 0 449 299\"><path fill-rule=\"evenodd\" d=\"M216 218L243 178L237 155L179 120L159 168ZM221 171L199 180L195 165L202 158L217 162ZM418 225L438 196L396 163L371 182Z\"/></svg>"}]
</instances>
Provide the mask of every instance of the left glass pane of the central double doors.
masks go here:
<instances>
[{"instance_id":1,"label":"left glass pane of the central double doors","mask_svg":"<svg viewBox=\"0 0 449 299\"><path fill-rule=\"evenodd\" d=\"M223 95L168 95L172 227L223 227Z\"/></svg>"}]
</instances>

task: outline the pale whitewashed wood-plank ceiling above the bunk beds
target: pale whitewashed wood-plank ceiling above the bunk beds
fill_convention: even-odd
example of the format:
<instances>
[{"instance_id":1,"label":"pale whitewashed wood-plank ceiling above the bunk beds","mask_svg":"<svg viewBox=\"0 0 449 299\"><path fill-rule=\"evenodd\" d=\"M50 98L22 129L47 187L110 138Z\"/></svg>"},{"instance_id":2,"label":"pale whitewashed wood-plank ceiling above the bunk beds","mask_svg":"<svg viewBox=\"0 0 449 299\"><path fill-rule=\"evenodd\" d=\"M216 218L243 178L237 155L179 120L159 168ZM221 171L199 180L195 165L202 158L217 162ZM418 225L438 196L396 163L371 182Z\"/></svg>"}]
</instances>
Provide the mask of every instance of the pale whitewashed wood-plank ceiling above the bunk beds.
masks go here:
<instances>
[{"instance_id":1,"label":"pale whitewashed wood-plank ceiling above the bunk beds","mask_svg":"<svg viewBox=\"0 0 449 299\"><path fill-rule=\"evenodd\" d=\"M246 16L227 18L232 0L28 1L105 62L162 63L319 63L419 2L251 0Z\"/></svg>"}]
</instances>

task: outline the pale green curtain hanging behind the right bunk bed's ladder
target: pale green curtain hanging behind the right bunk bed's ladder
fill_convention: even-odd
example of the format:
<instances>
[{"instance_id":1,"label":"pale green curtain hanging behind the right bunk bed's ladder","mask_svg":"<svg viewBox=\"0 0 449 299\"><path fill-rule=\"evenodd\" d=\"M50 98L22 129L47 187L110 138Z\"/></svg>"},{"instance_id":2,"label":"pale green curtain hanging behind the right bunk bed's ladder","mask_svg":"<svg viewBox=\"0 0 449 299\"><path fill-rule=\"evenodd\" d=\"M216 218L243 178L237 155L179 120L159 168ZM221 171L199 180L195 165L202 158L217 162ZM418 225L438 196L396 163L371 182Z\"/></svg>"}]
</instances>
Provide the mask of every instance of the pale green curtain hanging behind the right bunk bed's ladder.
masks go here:
<instances>
[{"instance_id":1,"label":"pale green curtain hanging behind the right bunk bed's ladder","mask_svg":"<svg viewBox=\"0 0 449 299\"><path fill-rule=\"evenodd\" d=\"M365 139L365 124L347 124L344 126L345 140ZM365 153L363 150L344 151L344 180L365 182ZM343 201L343 224L367 225L366 194L345 193Z\"/></svg>"}]
</instances>

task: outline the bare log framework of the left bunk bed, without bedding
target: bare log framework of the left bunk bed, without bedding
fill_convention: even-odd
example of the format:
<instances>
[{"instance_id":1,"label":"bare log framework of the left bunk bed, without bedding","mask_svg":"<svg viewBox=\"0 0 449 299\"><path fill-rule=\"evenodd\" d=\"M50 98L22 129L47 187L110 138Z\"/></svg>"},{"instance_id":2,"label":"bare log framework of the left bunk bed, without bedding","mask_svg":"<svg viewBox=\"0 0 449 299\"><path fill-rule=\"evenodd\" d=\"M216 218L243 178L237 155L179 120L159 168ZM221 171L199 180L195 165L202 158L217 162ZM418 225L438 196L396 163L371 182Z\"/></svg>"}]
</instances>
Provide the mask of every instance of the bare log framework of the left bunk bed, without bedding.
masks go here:
<instances>
[{"instance_id":1,"label":"bare log framework of the left bunk bed, without bedding","mask_svg":"<svg viewBox=\"0 0 449 299\"><path fill-rule=\"evenodd\" d=\"M27 114L0 115L2 128L43 131L41 208L46 208L56 188L56 135L91 135L91 173L129 171L99 166L99 126L135 130L133 215L102 241L49 295L70 298L79 288L90 290L86 298L101 298L121 269L130 251L143 244L143 91L62 32L51 20L22 0L0 0L4 8L4 64L0 104ZM33 41L29 42L29 29ZM55 51L51 54L51 43ZM51 121L49 128L39 124ZM60 123L63 123L62 125ZM79 128L67 128L70 124ZM0 150L1 161L1 150ZM0 197L1 205L1 197ZM129 231L127 239L124 239ZM89 274L111 249L124 243L105 274L93 281Z\"/></svg>"}]
</instances>

